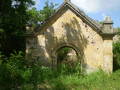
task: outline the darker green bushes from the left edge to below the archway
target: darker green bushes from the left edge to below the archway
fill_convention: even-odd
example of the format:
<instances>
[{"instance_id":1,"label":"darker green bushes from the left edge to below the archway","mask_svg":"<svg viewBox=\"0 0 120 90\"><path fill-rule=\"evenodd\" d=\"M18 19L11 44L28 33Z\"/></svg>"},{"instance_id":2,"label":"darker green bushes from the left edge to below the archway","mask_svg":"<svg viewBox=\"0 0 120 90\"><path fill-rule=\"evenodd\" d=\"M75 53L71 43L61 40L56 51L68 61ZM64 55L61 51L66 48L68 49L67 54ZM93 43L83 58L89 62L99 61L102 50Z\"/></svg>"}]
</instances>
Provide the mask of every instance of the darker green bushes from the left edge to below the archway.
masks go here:
<instances>
[{"instance_id":1,"label":"darker green bushes from the left edge to below the archway","mask_svg":"<svg viewBox=\"0 0 120 90\"><path fill-rule=\"evenodd\" d=\"M18 90L26 85L32 85L33 88L46 80L57 78L61 75L80 75L79 65L76 68L69 68L66 65L51 69L39 66L33 63L31 66L24 59L24 54L15 52L9 58L0 55L0 89L1 90ZM27 87L29 88L29 87ZM35 89L37 90L37 89Z\"/></svg>"}]
</instances>

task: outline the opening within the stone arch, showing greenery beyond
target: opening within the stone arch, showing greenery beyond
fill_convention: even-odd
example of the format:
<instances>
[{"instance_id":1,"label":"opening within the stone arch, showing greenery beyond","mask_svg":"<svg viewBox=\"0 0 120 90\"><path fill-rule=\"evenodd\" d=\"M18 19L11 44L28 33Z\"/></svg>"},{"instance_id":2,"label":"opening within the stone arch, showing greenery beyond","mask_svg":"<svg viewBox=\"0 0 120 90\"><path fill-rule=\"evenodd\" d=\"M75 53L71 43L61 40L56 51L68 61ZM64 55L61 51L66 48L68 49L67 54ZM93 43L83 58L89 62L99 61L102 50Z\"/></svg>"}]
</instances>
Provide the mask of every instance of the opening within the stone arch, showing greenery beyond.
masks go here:
<instances>
[{"instance_id":1,"label":"opening within the stone arch, showing greenery beyond","mask_svg":"<svg viewBox=\"0 0 120 90\"><path fill-rule=\"evenodd\" d=\"M59 48L56 51L56 57L57 57L57 65L58 64L73 65L74 63L78 62L79 59L76 51L68 46Z\"/></svg>"}]
</instances>

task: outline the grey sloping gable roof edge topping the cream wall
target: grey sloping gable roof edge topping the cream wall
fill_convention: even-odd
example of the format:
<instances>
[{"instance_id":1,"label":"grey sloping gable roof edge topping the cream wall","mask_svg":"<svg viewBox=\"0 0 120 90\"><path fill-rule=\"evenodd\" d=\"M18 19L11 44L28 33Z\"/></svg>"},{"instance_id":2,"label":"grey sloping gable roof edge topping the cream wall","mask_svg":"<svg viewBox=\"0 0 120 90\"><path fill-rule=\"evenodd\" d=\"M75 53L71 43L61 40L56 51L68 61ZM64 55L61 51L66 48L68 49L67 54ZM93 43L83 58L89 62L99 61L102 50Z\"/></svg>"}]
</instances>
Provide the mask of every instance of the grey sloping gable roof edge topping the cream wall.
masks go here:
<instances>
[{"instance_id":1,"label":"grey sloping gable roof edge topping the cream wall","mask_svg":"<svg viewBox=\"0 0 120 90\"><path fill-rule=\"evenodd\" d=\"M56 15L61 14L61 12L65 10L66 8L72 10L78 17L80 17L84 22L90 25L98 33L102 32L101 31L102 25L100 23L91 19L82 10L80 10L76 5L74 5L73 3L69 1L69 2L64 2L51 17L49 17L46 21L44 21L42 25L35 28L34 30L35 35L38 32L40 32L46 26L46 24L48 24L51 20L53 20Z\"/></svg>"}]
</instances>

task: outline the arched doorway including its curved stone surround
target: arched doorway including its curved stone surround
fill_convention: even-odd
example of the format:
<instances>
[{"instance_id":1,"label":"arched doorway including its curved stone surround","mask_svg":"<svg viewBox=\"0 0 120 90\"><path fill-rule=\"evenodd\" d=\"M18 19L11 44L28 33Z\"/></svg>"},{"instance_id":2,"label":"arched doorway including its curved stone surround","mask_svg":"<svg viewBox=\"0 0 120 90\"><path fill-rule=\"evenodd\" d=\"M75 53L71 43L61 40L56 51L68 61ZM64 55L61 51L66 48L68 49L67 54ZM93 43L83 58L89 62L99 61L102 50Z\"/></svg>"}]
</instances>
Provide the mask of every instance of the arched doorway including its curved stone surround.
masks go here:
<instances>
[{"instance_id":1,"label":"arched doorway including its curved stone surround","mask_svg":"<svg viewBox=\"0 0 120 90\"><path fill-rule=\"evenodd\" d=\"M71 44L62 44L52 52L52 65L79 63L82 70L83 59L79 48Z\"/></svg>"}]
</instances>

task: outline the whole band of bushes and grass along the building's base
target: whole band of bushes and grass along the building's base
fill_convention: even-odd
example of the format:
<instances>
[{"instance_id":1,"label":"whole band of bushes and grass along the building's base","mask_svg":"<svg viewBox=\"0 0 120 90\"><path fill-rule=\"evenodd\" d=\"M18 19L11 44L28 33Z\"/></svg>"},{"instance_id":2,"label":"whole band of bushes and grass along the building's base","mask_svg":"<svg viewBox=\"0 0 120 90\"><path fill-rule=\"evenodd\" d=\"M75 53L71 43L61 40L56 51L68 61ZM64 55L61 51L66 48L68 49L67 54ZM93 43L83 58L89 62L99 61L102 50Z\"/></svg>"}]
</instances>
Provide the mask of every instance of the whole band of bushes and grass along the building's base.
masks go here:
<instances>
[{"instance_id":1,"label":"whole band of bushes and grass along the building's base","mask_svg":"<svg viewBox=\"0 0 120 90\"><path fill-rule=\"evenodd\" d=\"M98 71L83 75L80 64L71 68L62 65L57 69L29 66L22 52L11 54L9 58L0 55L1 90L118 90L120 89L120 70L108 75Z\"/></svg>"}]
</instances>

